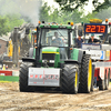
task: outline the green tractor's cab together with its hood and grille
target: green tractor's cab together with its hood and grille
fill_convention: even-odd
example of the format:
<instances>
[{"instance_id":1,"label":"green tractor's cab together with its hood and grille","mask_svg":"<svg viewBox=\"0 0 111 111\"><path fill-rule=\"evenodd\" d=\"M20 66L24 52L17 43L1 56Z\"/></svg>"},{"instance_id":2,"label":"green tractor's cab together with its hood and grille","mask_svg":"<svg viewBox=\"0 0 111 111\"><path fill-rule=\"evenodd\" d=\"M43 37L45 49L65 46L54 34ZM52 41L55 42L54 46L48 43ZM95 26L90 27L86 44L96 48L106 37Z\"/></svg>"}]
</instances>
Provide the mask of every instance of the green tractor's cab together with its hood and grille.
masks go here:
<instances>
[{"instance_id":1,"label":"green tractor's cab together with its hood and grille","mask_svg":"<svg viewBox=\"0 0 111 111\"><path fill-rule=\"evenodd\" d=\"M37 52L42 67L46 67L47 62L47 67L58 68L61 62L70 58L72 26L73 23L63 26L42 22L39 24L37 28Z\"/></svg>"}]
</instances>

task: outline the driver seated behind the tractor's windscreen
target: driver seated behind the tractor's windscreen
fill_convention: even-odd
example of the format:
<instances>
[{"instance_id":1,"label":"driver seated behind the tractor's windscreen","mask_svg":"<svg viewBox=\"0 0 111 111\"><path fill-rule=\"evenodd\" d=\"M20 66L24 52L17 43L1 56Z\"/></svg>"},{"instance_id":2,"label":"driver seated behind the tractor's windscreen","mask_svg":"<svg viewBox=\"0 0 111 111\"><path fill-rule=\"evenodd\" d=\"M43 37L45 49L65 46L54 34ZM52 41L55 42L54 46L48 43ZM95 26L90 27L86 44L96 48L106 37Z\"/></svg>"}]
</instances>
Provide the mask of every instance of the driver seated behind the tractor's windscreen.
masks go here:
<instances>
[{"instance_id":1,"label":"driver seated behind the tractor's windscreen","mask_svg":"<svg viewBox=\"0 0 111 111\"><path fill-rule=\"evenodd\" d=\"M63 47L63 40L59 38L58 32L54 32L56 39L52 40L52 46Z\"/></svg>"}]
</instances>

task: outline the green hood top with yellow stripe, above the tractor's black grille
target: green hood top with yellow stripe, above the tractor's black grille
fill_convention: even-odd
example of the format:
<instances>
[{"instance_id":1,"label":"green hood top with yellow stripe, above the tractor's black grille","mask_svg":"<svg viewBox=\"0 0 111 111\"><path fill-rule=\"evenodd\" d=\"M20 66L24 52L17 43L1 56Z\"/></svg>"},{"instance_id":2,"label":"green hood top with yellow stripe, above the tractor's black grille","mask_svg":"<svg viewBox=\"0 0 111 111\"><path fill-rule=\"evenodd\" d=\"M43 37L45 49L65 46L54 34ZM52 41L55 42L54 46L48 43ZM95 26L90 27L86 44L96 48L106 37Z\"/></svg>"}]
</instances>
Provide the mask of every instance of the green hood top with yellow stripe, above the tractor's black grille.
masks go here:
<instances>
[{"instance_id":1,"label":"green hood top with yellow stripe, above the tractor's black grille","mask_svg":"<svg viewBox=\"0 0 111 111\"><path fill-rule=\"evenodd\" d=\"M59 48L56 47L47 47L42 48L42 53L58 53L59 54Z\"/></svg>"}]
</instances>

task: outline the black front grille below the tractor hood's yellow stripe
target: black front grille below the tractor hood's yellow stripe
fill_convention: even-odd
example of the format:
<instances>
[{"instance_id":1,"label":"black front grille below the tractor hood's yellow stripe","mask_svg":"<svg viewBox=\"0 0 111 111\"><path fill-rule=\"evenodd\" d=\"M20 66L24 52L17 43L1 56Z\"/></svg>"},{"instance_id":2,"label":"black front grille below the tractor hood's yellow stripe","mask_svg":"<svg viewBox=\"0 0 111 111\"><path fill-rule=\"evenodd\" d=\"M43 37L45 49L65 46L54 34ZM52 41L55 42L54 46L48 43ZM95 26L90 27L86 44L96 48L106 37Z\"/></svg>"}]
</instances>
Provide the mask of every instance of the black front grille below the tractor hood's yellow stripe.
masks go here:
<instances>
[{"instance_id":1,"label":"black front grille below the tractor hood's yellow stripe","mask_svg":"<svg viewBox=\"0 0 111 111\"><path fill-rule=\"evenodd\" d=\"M42 60L48 60L49 67L54 67L54 63L50 63L50 60L54 60L56 53L42 53ZM42 63L42 67L44 67L44 63Z\"/></svg>"}]
</instances>

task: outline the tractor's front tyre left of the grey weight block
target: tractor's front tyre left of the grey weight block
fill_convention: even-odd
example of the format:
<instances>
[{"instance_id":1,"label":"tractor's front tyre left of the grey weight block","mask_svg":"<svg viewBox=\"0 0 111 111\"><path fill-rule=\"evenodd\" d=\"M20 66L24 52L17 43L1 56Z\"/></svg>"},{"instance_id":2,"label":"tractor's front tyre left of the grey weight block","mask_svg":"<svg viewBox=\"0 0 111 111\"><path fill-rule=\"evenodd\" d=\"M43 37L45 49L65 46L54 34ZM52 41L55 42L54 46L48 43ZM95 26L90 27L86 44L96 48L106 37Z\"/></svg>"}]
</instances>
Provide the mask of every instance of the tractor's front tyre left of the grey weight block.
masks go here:
<instances>
[{"instance_id":1,"label":"tractor's front tyre left of the grey weight block","mask_svg":"<svg viewBox=\"0 0 111 111\"><path fill-rule=\"evenodd\" d=\"M19 89L21 92L33 92L34 88L28 85L28 69L32 67L32 63L22 63L20 65L19 74Z\"/></svg>"}]
</instances>

